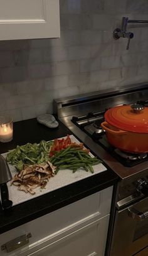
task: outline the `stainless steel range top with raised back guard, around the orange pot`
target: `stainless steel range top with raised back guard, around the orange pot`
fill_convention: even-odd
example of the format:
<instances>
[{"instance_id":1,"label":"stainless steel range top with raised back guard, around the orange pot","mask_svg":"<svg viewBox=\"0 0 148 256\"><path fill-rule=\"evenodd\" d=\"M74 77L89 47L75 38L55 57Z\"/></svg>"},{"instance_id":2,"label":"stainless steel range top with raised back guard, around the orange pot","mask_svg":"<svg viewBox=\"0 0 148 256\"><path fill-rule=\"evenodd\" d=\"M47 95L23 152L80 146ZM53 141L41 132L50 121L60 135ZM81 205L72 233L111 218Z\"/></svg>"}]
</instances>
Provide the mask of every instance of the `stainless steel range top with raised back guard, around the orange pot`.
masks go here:
<instances>
[{"instance_id":1,"label":"stainless steel range top with raised back guard, around the orange pot","mask_svg":"<svg viewBox=\"0 0 148 256\"><path fill-rule=\"evenodd\" d=\"M145 102L147 106L147 100L147 84L138 84L116 91L104 90L58 99L54 101L54 110L61 122L126 183L127 179L129 182L134 180L135 176L140 178L147 175L147 154L130 154L125 159L123 152L108 143L105 132L100 129L100 123L105 110L110 107L134 104L137 101Z\"/></svg>"}]
</instances>

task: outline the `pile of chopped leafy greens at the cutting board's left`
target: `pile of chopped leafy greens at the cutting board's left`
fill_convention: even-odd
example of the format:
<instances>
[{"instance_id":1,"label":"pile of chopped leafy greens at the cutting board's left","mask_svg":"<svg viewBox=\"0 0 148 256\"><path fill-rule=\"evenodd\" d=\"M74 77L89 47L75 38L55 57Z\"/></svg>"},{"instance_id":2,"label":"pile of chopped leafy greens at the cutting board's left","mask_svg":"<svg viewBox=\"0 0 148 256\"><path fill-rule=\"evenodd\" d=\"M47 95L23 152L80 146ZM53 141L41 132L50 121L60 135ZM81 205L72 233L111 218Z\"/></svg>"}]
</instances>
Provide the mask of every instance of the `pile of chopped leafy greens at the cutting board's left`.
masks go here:
<instances>
[{"instance_id":1,"label":"pile of chopped leafy greens at the cutting board's left","mask_svg":"<svg viewBox=\"0 0 148 256\"><path fill-rule=\"evenodd\" d=\"M27 143L10 150L6 160L15 166L18 171L23 169L23 164L41 164L49 160L49 151L53 142L41 141L40 144Z\"/></svg>"}]
</instances>

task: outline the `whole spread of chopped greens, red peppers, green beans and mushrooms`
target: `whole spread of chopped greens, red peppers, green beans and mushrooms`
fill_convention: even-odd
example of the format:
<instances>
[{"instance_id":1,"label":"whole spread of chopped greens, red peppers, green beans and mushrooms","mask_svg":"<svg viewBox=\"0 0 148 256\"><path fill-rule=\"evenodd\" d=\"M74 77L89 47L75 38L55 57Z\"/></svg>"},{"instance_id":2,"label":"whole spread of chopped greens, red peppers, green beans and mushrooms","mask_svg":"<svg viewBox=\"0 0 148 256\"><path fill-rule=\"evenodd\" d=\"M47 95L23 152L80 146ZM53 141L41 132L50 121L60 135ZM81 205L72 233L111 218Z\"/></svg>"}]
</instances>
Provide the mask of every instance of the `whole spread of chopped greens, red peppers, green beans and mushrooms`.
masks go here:
<instances>
[{"instance_id":1,"label":"whole spread of chopped greens, red peppers, green beans and mushrooms","mask_svg":"<svg viewBox=\"0 0 148 256\"><path fill-rule=\"evenodd\" d=\"M94 173L92 166L101 163L97 157L89 155L83 143L71 142L69 135L65 139L17 146L8 152L6 160L18 171L11 184L31 195L38 186L45 188L48 180L60 169L70 169L73 173L84 169Z\"/></svg>"}]
</instances>

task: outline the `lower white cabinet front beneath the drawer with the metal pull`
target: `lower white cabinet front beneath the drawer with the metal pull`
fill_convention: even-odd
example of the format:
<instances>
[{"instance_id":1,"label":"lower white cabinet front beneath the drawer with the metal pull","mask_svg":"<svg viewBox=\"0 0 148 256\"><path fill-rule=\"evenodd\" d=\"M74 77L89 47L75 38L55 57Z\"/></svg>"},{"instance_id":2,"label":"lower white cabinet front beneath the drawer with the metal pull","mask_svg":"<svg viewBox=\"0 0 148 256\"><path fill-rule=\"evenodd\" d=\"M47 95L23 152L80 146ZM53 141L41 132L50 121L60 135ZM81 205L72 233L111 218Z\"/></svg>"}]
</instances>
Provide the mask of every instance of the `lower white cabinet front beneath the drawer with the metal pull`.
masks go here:
<instances>
[{"instance_id":1,"label":"lower white cabinet front beneath the drawer with the metal pull","mask_svg":"<svg viewBox=\"0 0 148 256\"><path fill-rule=\"evenodd\" d=\"M28 256L103 256L107 240L109 215L46 244ZM39 242L40 243L40 242ZM22 255L22 254L21 254ZM23 255L22 255L23 256Z\"/></svg>"}]
</instances>

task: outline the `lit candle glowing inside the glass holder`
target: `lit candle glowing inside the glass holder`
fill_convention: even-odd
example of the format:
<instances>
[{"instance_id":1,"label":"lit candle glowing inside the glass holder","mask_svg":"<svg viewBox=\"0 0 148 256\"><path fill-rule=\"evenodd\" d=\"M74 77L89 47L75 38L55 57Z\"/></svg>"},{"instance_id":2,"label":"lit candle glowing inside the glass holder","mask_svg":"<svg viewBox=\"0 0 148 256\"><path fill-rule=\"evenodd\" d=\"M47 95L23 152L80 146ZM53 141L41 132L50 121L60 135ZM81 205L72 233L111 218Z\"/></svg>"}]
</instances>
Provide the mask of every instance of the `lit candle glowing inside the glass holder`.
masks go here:
<instances>
[{"instance_id":1,"label":"lit candle glowing inside the glass holder","mask_svg":"<svg viewBox=\"0 0 148 256\"><path fill-rule=\"evenodd\" d=\"M9 142L13 139L13 120L7 124L0 124L0 141Z\"/></svg>"}]
</instances>

